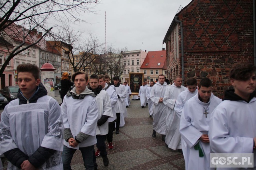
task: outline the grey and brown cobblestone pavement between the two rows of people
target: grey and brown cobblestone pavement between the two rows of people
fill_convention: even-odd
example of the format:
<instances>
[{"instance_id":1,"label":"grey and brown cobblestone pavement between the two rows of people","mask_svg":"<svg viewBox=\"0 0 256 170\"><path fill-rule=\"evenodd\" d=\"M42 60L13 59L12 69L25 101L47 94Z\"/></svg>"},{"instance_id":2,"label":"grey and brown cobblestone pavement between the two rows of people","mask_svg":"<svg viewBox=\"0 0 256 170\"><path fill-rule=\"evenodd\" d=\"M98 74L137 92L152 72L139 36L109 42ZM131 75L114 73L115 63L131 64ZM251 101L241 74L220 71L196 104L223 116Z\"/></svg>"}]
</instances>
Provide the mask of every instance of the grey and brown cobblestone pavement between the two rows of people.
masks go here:
<instances>
[{"instance_id":1,"label":"grey and brown cobblestone pavement between the two rows of people","mask_svg":"<svg viewBox=\"0 0 256 170\"><path fill-rule=\"evenodd\" d=\"M127 112L126 124L119 129L119 134L113 133L114 149L109 150L106 142L109 166L105 167L102 157L99 156L97 157L98 170L185 169L181 153L167 148L160 134L156 133L156 138L152 137L153 119L149 117L148 106L141 108L140 100L131 100ZM85 169L79 150L74 154L71 166L73 170Z\"/></svg>"}]
</instances>

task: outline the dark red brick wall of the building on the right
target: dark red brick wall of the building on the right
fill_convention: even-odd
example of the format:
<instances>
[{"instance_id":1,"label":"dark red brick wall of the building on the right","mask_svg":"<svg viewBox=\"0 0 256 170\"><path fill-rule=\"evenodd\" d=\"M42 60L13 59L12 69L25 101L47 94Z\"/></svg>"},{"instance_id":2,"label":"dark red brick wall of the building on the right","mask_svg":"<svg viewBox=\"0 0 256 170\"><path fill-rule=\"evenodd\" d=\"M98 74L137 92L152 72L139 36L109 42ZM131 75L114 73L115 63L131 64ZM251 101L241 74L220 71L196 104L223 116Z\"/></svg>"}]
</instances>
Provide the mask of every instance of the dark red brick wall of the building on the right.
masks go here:
<instances>
[{"instance_id":1,"label":"dark red brick wall of the building on the right","mask_svg":"<svg viewBox=\"0 0 256 170\"><path fill-rule=\"evenodd\" d=\"M185 81L208 77L213 80L214 94L223 98L224 90L232 88L230 68L239 62L254 62L252 0L193 0L177 16L184 26ZM180 26L179 57L174 58L175 27L167 43L168 78L172 81L182 72Z\"/></svg>"}]
</instances>

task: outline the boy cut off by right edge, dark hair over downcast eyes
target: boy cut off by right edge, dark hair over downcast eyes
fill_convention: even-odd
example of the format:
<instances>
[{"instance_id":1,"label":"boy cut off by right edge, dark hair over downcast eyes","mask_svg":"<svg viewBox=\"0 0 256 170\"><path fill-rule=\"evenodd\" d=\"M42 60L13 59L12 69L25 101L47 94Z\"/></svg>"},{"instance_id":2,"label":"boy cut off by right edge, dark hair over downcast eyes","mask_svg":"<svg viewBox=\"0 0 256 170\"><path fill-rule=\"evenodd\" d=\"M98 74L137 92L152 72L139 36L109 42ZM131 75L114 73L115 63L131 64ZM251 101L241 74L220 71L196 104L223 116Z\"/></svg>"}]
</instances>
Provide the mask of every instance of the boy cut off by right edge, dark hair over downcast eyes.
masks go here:
<instances>
[{"instance_id":1,"label":"boy cut off by right edge, dark hair over downcast eyes","mask_svg":"<svg viewBox=\"0 0 256 170\"><path fill-rule=\"evenodd\" d=\"M255 70L253 64L237 64L230 71L234 89L225 91L223 102L212 113L210 122L213 153L256 154ZM254 168L255 162L254 156Z\"/></svg>"}]
</instances>

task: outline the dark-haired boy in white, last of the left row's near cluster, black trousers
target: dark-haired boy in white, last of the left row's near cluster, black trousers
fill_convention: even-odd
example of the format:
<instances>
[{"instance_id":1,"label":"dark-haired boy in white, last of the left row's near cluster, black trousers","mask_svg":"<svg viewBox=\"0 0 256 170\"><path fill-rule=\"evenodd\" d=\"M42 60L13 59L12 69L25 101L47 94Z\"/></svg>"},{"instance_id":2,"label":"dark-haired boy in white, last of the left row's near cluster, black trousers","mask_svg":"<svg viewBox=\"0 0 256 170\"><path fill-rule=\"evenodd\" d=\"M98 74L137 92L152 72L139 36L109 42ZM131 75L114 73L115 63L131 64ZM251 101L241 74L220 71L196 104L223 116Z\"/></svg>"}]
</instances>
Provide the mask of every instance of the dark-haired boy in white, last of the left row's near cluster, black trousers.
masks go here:
<instances>
[{"instance_id":1,"label":"dark-haired boy in white, last of the left row's near cluster, black trousers","mask_svg":"<svg viewBox=\"0 0 256 170\"><path fill-rule=\"evenodd\" d=\"M116 94L118 97L117 103L115 105L116 110L116 134L119 134L119 127L125 125L125 113L127 114L127 110L125 107L125 98L126 98L126 91L125 87L119 83L119 77L114 76L114 82L111 84L115 87Z\"/></svg>"}]
</instances>

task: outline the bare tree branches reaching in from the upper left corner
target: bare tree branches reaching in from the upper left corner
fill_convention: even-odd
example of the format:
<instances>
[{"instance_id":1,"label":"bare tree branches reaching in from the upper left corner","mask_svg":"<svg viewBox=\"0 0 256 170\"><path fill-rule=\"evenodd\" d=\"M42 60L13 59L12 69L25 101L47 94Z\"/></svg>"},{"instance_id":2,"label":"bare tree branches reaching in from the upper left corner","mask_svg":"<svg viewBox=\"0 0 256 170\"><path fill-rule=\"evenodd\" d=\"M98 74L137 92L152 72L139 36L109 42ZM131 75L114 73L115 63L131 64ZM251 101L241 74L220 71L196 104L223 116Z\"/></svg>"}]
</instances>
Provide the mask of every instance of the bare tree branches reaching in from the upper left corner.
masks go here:
<instances>
[{"instance_id":1,"label":"bare tree branches reaching in from the upper left corner","mask_svg":"<svg viewBox=\"0 0 256 170\"><path fill-rule=\"evenodd\" d=\"M97 4L97 0L75 0L75 1L55 1L55 0L6 0L0 2L0 37L11 42L19 41L20 44L13 49L8 45L5 47L9 51L0 69L0 76L11 59L37 45L41 39L48 35L53 27L48 27L47 21L52 19L54 23L62 24L63 21L82 21L79 18L82 13L93 12L91 9ZM55 24L54 27L57 27ZM26 29L24 29L26 28ZM41 36L33 34L33 31L41 32ZM24 48L24 45L26 47Z\"/></svg>"}]
</instances>

